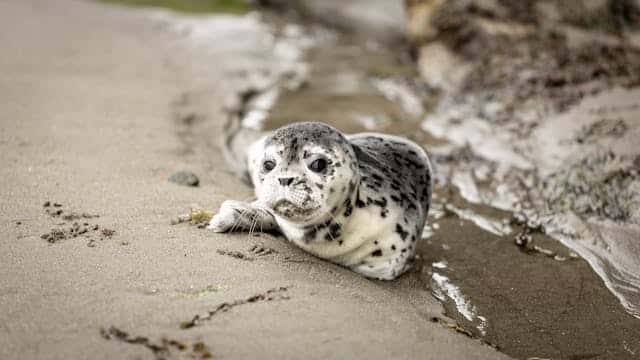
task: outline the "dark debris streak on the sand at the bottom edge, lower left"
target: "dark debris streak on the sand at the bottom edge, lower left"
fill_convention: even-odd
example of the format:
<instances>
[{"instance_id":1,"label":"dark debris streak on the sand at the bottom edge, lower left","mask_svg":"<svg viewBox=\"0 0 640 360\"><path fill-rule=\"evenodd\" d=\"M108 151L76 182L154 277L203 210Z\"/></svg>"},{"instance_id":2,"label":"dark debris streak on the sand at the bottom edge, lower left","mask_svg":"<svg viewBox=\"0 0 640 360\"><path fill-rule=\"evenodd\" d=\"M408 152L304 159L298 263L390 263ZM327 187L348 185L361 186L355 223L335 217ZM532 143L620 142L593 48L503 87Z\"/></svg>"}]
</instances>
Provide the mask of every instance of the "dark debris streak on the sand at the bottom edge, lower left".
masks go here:
<instances>
[{"instance_id":1,"label":"dark debris streak on the sand at the bottom edge, lower left","mask_svg":"<svg viewBox=\"0 0 640 360\"><path fill-rule=\"evenodd\" d=\"M188 344L163 337L159 342L153 342L148 337L133 336L115 326L111 326L108 329L101 328L100 336L106 340L116 340L131 345L143 346L153 353L156 360L177 358L177 354L185 354L191 359L212 358L209 347L202 341Z\"/></svg>"}]
</instances>

